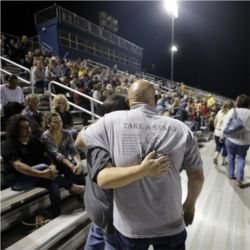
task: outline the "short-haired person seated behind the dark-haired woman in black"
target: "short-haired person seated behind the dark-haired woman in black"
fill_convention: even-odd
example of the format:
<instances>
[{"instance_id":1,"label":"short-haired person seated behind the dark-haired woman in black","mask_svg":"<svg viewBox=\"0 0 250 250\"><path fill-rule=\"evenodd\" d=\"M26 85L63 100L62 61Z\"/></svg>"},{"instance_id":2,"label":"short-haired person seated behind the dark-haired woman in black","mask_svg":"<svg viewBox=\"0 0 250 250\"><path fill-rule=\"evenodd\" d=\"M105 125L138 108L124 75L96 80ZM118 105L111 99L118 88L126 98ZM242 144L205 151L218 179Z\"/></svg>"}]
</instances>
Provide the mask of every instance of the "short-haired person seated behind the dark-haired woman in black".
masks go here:
<instances>
[{"instance_id":1,"label":"short-haired person seated behind the dark-haired woman in black","mask_svg":"<svg viewBox=\"0 0 250 250\"><path fill-rule=\"evenodd\" d=\"M32 135L40 138L42 135L42 113L38 111L39 97L35 94L26 96L26 107L22 110L22 115L30 119Z\"/></svg>"}]
</instances>

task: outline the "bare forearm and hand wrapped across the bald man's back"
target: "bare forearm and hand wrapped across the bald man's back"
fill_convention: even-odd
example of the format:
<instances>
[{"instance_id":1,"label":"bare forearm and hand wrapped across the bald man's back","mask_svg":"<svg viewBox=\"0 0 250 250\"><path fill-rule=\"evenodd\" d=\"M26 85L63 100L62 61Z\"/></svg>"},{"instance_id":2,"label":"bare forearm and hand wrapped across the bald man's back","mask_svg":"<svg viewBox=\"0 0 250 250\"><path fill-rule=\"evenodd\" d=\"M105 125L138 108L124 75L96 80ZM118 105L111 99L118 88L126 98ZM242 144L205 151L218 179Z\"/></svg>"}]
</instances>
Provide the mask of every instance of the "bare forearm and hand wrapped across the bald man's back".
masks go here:
<instances>
[{"instance_id":1,"label":"bare forearm and hand wrapped across the bald man's back","mask_svg":"<svg viewBox=\"0 0 250 250\"><path fill-rule=\"evenodd\" d=\"M146 176L164 175L169 168L170 160L167 156L155 158L155 152L151 152L139 165L114 167L107 163L97 175L97 184L104 189L123 187Z\"/></svg>"}]
</instances>

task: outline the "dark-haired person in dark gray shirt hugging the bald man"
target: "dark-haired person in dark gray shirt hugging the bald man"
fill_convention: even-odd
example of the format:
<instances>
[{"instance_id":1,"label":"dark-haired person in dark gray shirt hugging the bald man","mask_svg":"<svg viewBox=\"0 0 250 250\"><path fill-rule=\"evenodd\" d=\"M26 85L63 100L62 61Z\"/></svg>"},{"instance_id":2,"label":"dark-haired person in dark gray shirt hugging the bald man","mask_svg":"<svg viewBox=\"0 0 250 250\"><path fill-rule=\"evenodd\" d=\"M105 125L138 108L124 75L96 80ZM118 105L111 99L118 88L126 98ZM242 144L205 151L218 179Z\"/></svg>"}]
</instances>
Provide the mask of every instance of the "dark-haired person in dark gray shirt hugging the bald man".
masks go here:
<instances>
[{"instance_id":1,"label":"dark-haired person in dark gray shirt hugging the bald man","mask_svg":"<svg viewBox=\"0 0 250 250\"><path fill-rule=\"evenodd\" d=\"M103 115L116 110L128 110L126 97L122 95L109 96L105 100L102 110ZM84 204L94 224L89 230L84 249L120 249L113 227L113 190L101 189L95 180L96 172L105 167L107 161L111 161L110 155L105 149L94 147L86 151L86 156L89 175L86 181ZM147 172L148 176L155 175L161 164L166 165L164 157L152 159L151 156L154 157L154 153L151 152L140 164L141 171ZM159 167L156 164L159 164ZM152 167L153 165L154 167ZM150 171L148 171L149 168Z\"/></svg>"}]
</instances>

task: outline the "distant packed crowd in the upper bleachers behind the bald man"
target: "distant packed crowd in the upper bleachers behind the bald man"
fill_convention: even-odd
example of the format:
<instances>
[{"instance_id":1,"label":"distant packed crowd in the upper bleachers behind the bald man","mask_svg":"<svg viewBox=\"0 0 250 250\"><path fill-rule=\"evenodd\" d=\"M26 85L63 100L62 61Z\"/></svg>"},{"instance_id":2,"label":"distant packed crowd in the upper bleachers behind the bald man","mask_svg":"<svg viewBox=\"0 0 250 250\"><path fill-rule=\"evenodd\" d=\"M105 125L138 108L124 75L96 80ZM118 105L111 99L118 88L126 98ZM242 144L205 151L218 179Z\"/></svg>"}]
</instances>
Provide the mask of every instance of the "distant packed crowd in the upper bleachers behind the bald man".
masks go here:
<instances>
[{"instance_id":1,"label":"distant packed crowd in the upper bleachers behind the bald man","mask_svg":"<svg viewBox=\"0 0 250 250\"><path fill-rule=\"evenodd\" d=\"M22 40L26 41L25 39ZM3 36L1 41L5 41ZM15 55L21 55L21 53L14 53L13 56L13 53L10 52L12 47L7 42L4 42L4 44L4 47L8 49L4 49L3 55L31 70L30 76L26 76L26 78L30 80L38 93L47 91L48 83L55 80L99 101L104 101L107 96L113 93L126 95L131 83L141 78L140 73L120 72L115 67L113 69L102 66L93 67L88 64L87 60L60 59L51 54L43 53L40 49L32 50L27 46L28 42L25 43L25 46L19 46L22 51L25 51L25 56L17 59ZM159 113L187 121L193 131L199 130L201 126L213 130L213 120L219 110L214 97L199 95L199 93L190 91L185 88L183 83L175 85L169 83L167 89L163 92L161 85L157 81L154 83ZM18 91L20 92L20 89ZM53 85L52 91L57 94L67 94L67 98L75 104L90 109L89 101L74 92L70 93L56 85ZM15 98L12 99L12 102L13 100ZM2 105L4 104L2 103ZM101 113L100 105L95 104L95 112Z\"/></svg>"}]
</instances>

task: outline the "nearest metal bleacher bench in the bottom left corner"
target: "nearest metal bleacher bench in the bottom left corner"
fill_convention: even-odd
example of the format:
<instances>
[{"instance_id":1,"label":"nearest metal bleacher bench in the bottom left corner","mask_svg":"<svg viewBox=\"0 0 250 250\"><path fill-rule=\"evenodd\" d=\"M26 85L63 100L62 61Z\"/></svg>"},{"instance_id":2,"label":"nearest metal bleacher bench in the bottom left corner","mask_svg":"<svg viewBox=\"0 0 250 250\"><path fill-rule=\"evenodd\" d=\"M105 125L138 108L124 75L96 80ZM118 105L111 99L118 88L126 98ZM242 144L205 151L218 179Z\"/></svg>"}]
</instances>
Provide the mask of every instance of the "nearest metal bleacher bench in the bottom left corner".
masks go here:
<instances>
[{"instance_id":1,"label":"nearest metal bleacher bench in the bottom left corner","mask_svg":"<svg viewBox=\"0 0 250 250\"><path fill-rule=\"evenodd\" d=\"M89 226L90 220L86 211L60 215L6 250L76 249L85 241ZM68 237L70 233L73 233L72 237Z\"/></svg>"}]
</instances>

